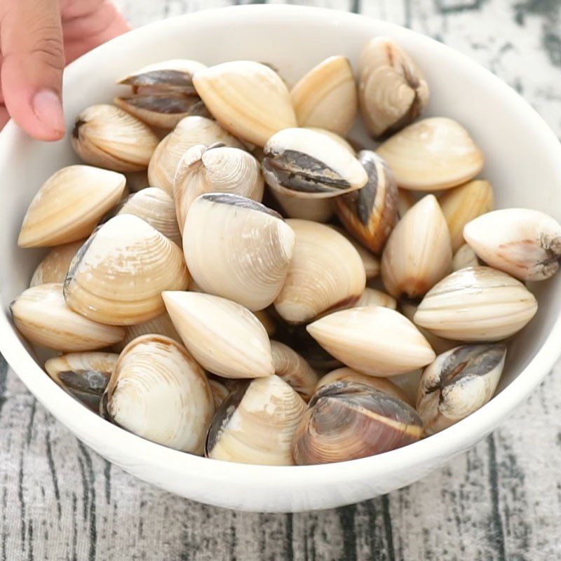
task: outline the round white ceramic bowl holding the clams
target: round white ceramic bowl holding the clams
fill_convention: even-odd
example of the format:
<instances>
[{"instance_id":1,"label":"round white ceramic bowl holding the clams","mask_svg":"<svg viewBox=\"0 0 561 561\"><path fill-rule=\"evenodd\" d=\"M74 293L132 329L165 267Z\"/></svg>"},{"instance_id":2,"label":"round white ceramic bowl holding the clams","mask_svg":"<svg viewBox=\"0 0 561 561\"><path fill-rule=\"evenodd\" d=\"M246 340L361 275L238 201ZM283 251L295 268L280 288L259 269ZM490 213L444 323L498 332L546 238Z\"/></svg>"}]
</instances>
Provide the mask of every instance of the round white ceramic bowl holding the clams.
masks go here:
<instances>
[{"instance_id":1,"label":"round white ceramic bowl holding the clams","mask_svg":"<svg viewBox=\"0 0 561 561\"><path fill-rule=\"evenodd\" d=\"M253 59L276 65L289 81L330 55L356 65L376 35L414 55L431 86L427 114L458 119L485 151L484 176L498 207L536 208L561 218L561 147L511 88L450 48L386 22L313 8L242 6L203 11L137 29L74 62L65 74L67 123L89 104L109 102L126 72L168 58L208 65ZM498 395L452 428L376 457L325 466L229 464L176 452L124 431L67 396L41 370L13 327L8 304L27 288L41 252L16 245L29 201L58 168L76 162L68 139L30 140L10 123L0 135L0 347L36 398L72 433L114 464L170 492L248 511L305 511L369 499L424 477L468 450L518 407L560 353L561 276L535 285L536 318L511 345ZM521 428L523 430L523 428Z\"/></svg>"}]
</instances>

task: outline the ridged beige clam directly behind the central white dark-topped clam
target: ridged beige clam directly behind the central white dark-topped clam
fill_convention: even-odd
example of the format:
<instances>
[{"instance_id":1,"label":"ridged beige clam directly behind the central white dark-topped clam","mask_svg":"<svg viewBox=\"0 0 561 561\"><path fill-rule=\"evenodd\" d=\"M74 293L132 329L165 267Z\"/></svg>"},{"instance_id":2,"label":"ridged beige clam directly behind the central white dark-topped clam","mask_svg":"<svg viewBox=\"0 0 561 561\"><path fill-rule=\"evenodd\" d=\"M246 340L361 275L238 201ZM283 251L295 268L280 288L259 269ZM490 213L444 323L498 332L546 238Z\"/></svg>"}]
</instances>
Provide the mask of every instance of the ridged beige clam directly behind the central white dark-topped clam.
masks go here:
<instances>
[{"instance_id":1,"label":"ridged beige clam directly behind the central white dark-topped clam","mask_svg":"<svg viewBox=\"0 0 561 561\"><path fill-rule=\"evenodd\" d=\"M229 193L261 202L264 181L248 152L222 144L196 144L182 157L173 184L177 222L183 231L191 203L205 193Z\"/></svg>"}]
</instances>

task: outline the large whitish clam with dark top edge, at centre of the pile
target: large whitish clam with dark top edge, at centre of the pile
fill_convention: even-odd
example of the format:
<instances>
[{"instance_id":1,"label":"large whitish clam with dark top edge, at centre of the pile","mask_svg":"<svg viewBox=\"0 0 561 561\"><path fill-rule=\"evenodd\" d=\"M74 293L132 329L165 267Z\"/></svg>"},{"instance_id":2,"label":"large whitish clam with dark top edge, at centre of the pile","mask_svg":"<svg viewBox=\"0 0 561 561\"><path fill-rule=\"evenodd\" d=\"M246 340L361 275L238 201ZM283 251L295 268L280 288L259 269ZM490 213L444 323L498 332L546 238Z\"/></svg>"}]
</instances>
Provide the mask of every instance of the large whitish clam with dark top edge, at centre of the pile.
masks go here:
<instances>
[{"instance_id":1,"label":"large whitish clam with dark top edge, at centre of the pile","mask_svg":"<svg viewBox=\"0 0 561 561\"><path fill-rule=\"evenodd\" d=\"M226 193L199 196L183 229L185 259L201 289L253 311L278 296L294 246L295 233L277 212Z\"/></svg>"}]
</instances>

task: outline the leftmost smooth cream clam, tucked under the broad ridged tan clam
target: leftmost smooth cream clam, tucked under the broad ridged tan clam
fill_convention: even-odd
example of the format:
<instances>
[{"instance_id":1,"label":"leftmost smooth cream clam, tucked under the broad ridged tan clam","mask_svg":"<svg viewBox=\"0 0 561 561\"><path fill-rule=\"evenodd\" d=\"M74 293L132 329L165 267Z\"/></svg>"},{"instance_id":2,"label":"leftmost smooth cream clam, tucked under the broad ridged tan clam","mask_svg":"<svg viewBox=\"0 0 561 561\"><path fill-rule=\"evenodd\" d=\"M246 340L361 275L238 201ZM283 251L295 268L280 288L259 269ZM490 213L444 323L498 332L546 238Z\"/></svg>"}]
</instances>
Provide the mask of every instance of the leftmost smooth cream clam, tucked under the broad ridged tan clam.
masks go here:
<instances>
[{"instance_id":1,"label":"leftmost smooth cream clam, tucked under the broad ridged tan clam","mask_svg":"<svg viewBox=\"0 0 561 561\"><path fill-rule=\"evenodd\" d=\"M15 327L29 342L55 351L93 351L125 337L122 327L96 323L70 309L61 283L28 288L10 309Z\"/></svg>"}]
</instances>

